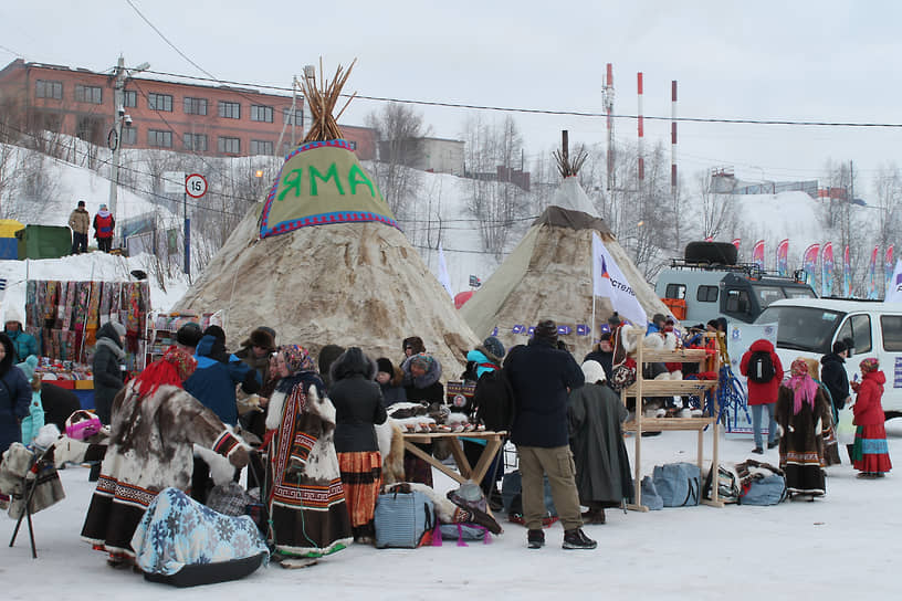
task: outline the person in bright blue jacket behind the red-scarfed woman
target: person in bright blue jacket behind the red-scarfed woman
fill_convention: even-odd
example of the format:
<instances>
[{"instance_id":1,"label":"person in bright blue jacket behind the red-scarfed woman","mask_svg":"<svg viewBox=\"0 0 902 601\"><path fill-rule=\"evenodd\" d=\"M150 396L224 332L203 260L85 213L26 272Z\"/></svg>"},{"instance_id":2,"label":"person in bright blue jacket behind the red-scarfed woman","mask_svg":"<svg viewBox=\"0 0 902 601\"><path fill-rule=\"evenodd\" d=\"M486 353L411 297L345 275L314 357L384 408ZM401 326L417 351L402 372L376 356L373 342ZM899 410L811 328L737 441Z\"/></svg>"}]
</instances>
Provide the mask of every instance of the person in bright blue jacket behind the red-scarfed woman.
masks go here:
<instances>
[{"instance_id":1,"label":"person in bright blue jacket behind the red-scarfed woman","mask_svg":"<svg viewBox=\"0 0 902 601\"><path fill-rule=\"evenodd\" d=\"M238 423L238 398L235 388L253 394L262 384L260 373L248 363L226 350L226 333L219 326L210 326L197 344L195 359L198 366L195 372L185 380L185 390L200 401L200 404L212 410L222 423ZM240 474L235 474L235 481ZM199 457L195 457L195 472L191 476L191 497L206 503L212 487L210 468Z\"/></svg>"}]
</instances>

